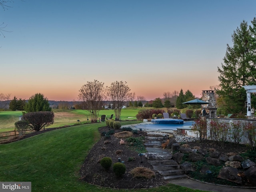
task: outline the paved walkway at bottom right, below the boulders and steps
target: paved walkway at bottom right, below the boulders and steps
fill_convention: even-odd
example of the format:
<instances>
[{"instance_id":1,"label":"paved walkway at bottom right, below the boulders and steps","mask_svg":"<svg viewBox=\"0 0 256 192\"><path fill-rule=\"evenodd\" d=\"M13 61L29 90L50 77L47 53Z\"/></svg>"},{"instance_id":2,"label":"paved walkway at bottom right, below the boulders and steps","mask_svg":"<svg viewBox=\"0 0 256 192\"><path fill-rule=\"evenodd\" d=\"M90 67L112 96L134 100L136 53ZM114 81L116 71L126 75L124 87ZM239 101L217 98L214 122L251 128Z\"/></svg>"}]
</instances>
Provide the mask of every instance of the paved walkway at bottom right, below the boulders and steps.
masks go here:
<instances>
[{"instance_id":1,"label":"paved walkway at bottom right, below the boulders and steps","mask_svg":"<svg viewBox=\"0 0 256 192\"><path fill-rule=\"evenodd\" d=\"M191 189L198 189L203 191L213 191L213 192L256 192L256 188L240 188L240 187L226 187L218 186L213 184L206 184L198 182L192 179L178 179L172 180L169 183L184 186Z\"/></svg>"}]
</instances>

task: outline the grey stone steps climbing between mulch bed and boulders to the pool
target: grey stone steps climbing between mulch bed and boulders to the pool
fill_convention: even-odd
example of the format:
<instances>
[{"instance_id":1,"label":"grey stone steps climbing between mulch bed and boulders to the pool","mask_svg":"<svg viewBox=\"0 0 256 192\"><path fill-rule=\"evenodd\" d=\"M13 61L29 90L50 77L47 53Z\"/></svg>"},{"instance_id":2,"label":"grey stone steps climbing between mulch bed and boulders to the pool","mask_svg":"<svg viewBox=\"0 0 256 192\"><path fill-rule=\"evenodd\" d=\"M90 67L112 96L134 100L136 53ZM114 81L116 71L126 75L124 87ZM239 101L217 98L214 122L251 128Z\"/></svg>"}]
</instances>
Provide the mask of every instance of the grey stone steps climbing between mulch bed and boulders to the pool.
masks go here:
<instances>
[{"instance_id":1,"label":"grey stone steps climbing between mulch bed and boulders to the pool","mask_svg":"<svg viewBox=\"0 0 256 192\"><path fill-rule=\"evenodd\" d=\"M162 148L162 144L167 140L166 134L162 133L149 133L145 137L144 146L148 153L146 158L166 181L186 178L184 171L180 169L178 163L172 159L172 154Z\"/></svg>"}]
</instances>

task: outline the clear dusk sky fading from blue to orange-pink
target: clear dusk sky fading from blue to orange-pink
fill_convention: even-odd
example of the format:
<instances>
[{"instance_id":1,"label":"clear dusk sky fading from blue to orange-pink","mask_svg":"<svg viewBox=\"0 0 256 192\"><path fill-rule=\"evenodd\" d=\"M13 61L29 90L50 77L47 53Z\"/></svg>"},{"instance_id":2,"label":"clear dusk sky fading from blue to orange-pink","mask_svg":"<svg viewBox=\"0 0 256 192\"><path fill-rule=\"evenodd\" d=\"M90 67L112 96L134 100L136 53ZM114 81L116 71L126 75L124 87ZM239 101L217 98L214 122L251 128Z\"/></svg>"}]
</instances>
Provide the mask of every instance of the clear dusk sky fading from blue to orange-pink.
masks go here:
<instances>
[{"instance_id":1,"label":"clear dusk sky fading from blue to orange-pink","mask_svg":"<svg viewBox=\"0 0 256 192\"><path fill-rule=\"evenodd\" d=\"M0 8L0 93L77 100L98 80L127 82L135 96L219 84L234 30L256 0L14 0Z\"/></svg>"}]
</instances>

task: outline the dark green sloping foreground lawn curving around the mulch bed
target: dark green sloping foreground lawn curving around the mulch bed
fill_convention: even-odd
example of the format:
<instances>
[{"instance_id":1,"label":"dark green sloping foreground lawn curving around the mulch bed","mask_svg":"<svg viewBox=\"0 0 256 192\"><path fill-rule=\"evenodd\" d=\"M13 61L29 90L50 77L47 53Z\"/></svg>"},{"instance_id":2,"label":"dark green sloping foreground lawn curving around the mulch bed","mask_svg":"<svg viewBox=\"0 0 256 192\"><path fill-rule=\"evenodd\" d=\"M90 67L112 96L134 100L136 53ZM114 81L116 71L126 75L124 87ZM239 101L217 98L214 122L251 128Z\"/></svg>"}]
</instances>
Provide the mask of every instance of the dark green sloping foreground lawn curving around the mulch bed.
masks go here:
<instances>
[{"instance_id":1,"label":"dark green sloping foreground lawn curving around the mulch bed","mask_svg":"<svg viewBox=\"0 0 256 192\"><path fill-rule=\"evenodd\" d=\"M32 182L33 192L125 192L99 188L79 181L79 170L93 144L100 138L100 124L62 128L0 145L0 180ZM168 184L135 192L199 192Z\"/></svg>"}]
</instances>

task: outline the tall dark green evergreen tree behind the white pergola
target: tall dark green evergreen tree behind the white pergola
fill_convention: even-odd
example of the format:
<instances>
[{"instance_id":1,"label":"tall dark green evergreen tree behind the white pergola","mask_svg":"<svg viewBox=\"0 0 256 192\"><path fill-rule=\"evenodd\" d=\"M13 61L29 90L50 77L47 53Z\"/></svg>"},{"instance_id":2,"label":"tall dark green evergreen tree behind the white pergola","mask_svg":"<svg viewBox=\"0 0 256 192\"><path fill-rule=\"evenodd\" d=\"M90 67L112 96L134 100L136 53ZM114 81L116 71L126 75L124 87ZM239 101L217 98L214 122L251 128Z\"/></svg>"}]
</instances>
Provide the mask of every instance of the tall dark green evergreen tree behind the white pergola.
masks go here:
<instances>
[{"instance_id":1,"label":"tall dark green evergreen tree behind the white pergola","mask_svg":"<svg viewBox=\"0 0 256 192\"><path fill-rule=\"evenodd\" d=\"M224 63L218 67L220 89L216 93L222 98L226 113L238 113L246 110L246 91L242 86L255 84L256 80L256 20L253 26L241 22L232 34L233 46L227 44Z\"/></svg>"}]
</instances>

